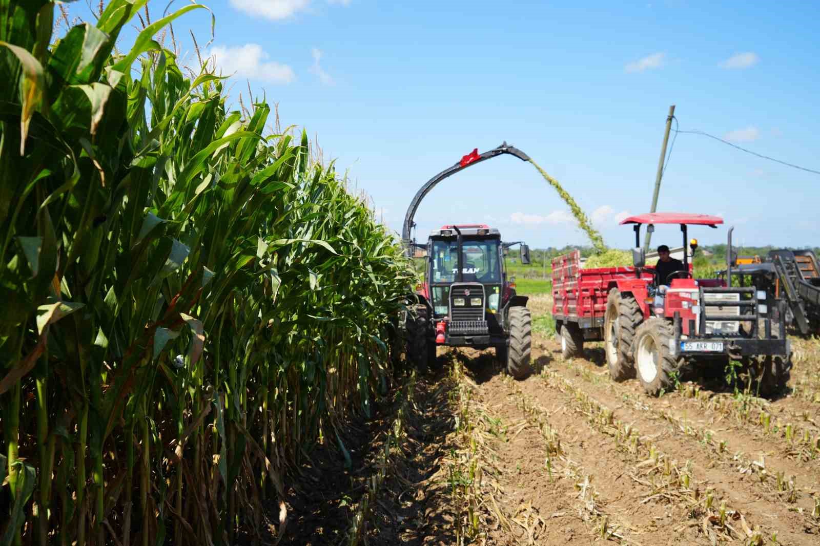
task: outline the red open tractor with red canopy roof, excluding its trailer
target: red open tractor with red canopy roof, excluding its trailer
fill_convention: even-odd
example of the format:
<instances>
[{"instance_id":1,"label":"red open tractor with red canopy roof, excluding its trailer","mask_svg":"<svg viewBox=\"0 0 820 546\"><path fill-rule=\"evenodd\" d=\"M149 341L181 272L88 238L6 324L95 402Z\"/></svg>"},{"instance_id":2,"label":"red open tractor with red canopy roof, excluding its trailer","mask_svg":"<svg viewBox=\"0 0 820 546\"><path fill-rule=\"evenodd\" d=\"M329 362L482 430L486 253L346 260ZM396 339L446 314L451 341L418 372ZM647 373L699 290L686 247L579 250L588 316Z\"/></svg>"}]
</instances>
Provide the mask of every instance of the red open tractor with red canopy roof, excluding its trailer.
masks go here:
<instances>
[{"instance_id":1,"label":"red open tractor with red canopy roof, excluding its trailer","mask_svg":"<svg viewBox=\"0 0 820 546\"><path fill-rule=\"evenodd\" d=\"M761 394L785 384L790 347L783 302L768 290L765 264L738 266L730 229L725 278L696 280L692 275L690 257L697 242L686 244L688 227L722 223L717 216L678 213L630 216L621 222L635 226L635 278L617 280L608 293L604 341L613 379L637 375L647 393L658 394L672 387L685 364L720 366L722 371L731 358L758 379ZM658 224L680 225L685 249L685 271L664 280L645 264L640 248L640 226L651 232Z\"/></svg>"}]
</instances>

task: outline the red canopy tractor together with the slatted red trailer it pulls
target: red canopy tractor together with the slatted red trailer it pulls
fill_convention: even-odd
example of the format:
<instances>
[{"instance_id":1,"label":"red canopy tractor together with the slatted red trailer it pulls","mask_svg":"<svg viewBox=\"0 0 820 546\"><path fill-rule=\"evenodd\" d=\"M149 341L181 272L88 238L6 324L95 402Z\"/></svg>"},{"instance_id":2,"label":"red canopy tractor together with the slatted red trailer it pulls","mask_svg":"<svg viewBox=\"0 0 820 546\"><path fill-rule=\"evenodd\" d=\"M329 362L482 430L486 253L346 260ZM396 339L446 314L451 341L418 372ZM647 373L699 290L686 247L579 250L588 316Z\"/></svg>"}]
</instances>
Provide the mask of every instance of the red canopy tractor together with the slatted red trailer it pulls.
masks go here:
<instances>
[{"instance_id":1,"label":"red canopy tractor together with the slatted red trailer it pulls","mask_svg":"<svg viewBox=\"0 0 820 546\"><path fill-rule=\"evenodd\" d=\"M717 216L654 212L626 218L635 225L631 267L581 269L571 253L553 260L553 318L564 357L579 355L585 340L604 340L609 375L616 381L635 377L647 394L672 388L682 366L711 366L723 371L728 359L754 375L760 394L772 394L788 380L790 343L786 339L784 302L752 283L755 272L732 271L731 230L727 275L699 279L692 275L689 225L717 228ZM640 226L678 224L683 234L683 271L659 279L646 266ZM733 275L740 285L732 286Z\"/></svg>"}]
</instances>

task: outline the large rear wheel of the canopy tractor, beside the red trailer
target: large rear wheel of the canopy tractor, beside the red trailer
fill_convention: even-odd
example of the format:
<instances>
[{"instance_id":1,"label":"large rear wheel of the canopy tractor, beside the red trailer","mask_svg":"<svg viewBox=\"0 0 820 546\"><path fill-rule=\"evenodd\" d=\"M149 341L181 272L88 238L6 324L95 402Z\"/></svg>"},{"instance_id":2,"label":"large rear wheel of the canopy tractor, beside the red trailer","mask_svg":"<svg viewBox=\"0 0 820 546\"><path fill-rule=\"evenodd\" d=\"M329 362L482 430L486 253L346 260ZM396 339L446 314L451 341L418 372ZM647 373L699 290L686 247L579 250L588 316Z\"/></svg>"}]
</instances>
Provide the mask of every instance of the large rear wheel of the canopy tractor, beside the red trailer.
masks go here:
<instances>
[{"instance_id":1,"label":"large rear wheel of the canopy tractor, beside the red trailer","mask_svg":"<svg viewBox=\"0 0 820 546\"><path fill-rule=\"evenodd\" d=\"M643 320L644 314L632 294L622 294L617 288L609 290L604 314L604 352L609 376L615 381L635 377L632 342Z\"/></svg>"}]
</instances>

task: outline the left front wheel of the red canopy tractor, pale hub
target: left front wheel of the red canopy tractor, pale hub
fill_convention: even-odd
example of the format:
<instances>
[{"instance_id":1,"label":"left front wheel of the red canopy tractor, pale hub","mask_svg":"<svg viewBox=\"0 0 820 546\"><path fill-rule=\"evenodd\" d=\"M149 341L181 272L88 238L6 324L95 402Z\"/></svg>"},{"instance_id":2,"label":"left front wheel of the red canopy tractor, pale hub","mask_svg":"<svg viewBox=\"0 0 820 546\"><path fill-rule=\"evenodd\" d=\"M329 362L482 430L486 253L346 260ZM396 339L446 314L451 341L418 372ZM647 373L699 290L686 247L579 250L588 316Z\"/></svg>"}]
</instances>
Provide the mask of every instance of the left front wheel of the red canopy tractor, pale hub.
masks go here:
<instances>
[{"instance_id":1,"label":"left front wheel of the red canopy tractor, pale hub","mask_svg":"<svg viewBox=\"0 0 820 546\"><path fill-rule=\"evenodd\" d=\"M649 396L671 390L683 358L673 357L669 340L674 338L672 323L652 316L635 331L635 371Z\"/></svg>"}]
</instances>

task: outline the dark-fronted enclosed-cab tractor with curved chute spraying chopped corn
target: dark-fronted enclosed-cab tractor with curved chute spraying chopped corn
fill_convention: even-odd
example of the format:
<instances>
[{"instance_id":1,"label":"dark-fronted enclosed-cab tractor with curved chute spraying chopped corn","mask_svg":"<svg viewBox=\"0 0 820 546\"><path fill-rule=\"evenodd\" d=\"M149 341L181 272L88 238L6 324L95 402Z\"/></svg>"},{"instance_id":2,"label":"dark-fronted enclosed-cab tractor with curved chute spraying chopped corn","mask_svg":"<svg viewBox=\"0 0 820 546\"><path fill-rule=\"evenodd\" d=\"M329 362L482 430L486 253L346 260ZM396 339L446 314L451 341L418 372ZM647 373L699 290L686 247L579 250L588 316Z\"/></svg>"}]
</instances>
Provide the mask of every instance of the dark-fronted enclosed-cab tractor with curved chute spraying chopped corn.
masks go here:
<instances>
[{"instance_id":1,"label":"dark-fronted enclosed-cab tractor with curved chute spraying chopped corn","mask_svg":"<svg viewBox=\"0 0 820 546\"><path fill-rule=\"evenodd\" d=\"M432 365L439 345L493 347L510 375L522 379L531 373L527 298L516 293L504 262L508 248L520 245L522 263L529 263L529 247L521 241L504 243L499 230L485 224L443 225L430 233L426 245L410 236L417 207L435 184L467 166L505 153L529 159L507 143L481 154L473 150L424 184L410 203L403 241L408 255L425 259L424 282L409 298L411 304L403 321L408 356L417 366Z\"/></svg>"}]
</instances>

